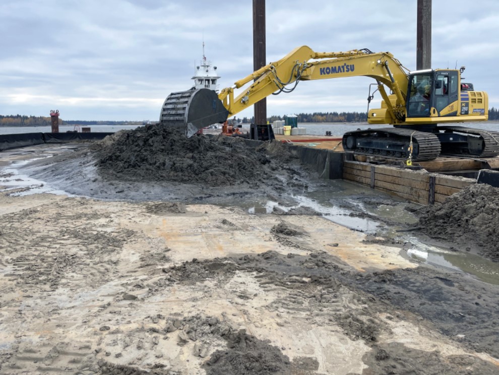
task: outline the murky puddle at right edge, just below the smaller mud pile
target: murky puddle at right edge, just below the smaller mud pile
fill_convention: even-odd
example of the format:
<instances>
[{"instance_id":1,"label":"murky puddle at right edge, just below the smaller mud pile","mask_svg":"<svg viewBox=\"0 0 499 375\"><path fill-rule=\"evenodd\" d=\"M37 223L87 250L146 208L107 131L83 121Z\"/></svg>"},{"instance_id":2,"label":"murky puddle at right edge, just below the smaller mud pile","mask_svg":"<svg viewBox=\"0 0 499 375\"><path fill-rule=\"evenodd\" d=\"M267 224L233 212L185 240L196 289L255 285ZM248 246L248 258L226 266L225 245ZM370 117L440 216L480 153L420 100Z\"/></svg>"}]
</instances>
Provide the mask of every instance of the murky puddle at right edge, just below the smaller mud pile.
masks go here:
<instances>
[{"instance_id":1,"label":"murky puddle at right edge, just below the smaller mud pile","mask_svg":"<svg viewBox=\"0 0 499 375\"><path fill-rule=\"evenodd\" d=\"M460 271L488 284L499 285L499 264L478 255L451 252L418 242L415 237L407 240L413 247L407 250L407 258L432 266Z\"/></svg>"}]
</instances>

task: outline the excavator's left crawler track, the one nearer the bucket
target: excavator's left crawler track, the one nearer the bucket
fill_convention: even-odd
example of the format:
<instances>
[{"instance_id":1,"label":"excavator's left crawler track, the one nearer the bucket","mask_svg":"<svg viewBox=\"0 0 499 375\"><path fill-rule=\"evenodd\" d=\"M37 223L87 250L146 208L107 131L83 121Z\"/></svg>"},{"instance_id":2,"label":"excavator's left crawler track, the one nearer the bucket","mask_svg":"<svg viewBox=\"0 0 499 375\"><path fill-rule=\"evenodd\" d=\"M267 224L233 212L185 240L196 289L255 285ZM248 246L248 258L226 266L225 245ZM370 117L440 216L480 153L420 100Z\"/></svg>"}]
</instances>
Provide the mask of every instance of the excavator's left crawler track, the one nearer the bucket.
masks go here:
<instances>
[{"instance_id":1,"label":"excavator's left crawler track, the one nearer the bucket","mask_svg":"<svg viewBox=\"0 0 499 375\"><path fill-rule=\"evenodd\" d=\"M401 128L382 128L382 129L371 129L371 130L360 130L360 131L353 131L353 132L348 132L343 135L344 139L348 135L362 135L363 138L368 135L366 133L386 133L389 135L393 135L394 138L398 139L406 139L407 143L410 142L410 138L412 135L412 140L413 142L417 142L419 146L419 152L418 154L412 154L412 160L413 161L423 161L423 160L433 160L436 157L440 155L440 141L437 136L435 136L432 133L427 133L427 132L419 132L419 131L414 131L412 129L401 129ZM347 150L345 150L347 151ZM382 155L376 155L376 154L370 154L368 152L361 152L354 150L354 153L357 155L369 155L369 156L382 156ZM391 155L384 156L390 159L397 159L397 160L407 160L407 157L395 157Z\"/></svg>"}]
</instances>

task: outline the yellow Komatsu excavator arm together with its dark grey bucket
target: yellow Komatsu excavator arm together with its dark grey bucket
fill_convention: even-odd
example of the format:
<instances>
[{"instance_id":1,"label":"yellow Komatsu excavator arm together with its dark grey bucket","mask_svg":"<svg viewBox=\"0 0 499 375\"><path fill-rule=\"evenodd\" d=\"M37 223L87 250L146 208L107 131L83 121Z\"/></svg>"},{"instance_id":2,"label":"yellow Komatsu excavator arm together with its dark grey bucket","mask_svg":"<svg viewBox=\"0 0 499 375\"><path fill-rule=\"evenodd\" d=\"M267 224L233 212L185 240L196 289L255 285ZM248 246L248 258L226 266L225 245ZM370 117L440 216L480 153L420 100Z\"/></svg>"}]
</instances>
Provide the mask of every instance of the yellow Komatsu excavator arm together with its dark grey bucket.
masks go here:
<instances>
[{"instance_id":1,"label":"yellow Komatsu excavator arm together with its dark grey bucket","mask_svg":"<svg viewBox=\"0 0 499 375\"><path fill-rule=\"evenodd\" d=\"M221 90L218 97L208 89L170 94L163 103L160 122L183 129L190 137L202 127L223 122L269 95L293 91L300 81L365 76L377 81L391 123L400 123L405 118L407 73L389 52L315 52L301 46ZM390 100L385 86L395 94L395 102ZM241 93L236 95L236 89Z\"/></svg>"}]
</instances>

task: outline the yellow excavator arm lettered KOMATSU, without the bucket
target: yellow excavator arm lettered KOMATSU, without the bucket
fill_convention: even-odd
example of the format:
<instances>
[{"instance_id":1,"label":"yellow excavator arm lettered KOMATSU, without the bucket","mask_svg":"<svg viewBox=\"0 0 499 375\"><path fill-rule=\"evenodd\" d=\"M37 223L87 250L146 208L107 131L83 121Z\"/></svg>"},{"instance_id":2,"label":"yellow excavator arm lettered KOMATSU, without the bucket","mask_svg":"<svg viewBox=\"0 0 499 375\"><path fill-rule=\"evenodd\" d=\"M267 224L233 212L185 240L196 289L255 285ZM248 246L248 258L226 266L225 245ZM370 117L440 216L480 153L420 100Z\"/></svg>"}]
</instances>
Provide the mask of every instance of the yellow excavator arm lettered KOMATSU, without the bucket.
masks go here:
<instances>
[{"instance_id":1,"label":"yellow excavator arm lettered KOMATSU, without the bucket","mask_svg":"<svg viewBox=\"0 0 499 375\"><path fill-rule=\"evenodd\" d=\"M223 89L218 97L228 109L229 116L233 116L269 95L292 91L299 81L365 76L378 82L395 121L405 115L406 71L389 52L372 53L366 49L314 52L307 46L301 46L275 63L235 82L234 86ZM251 86L234 98L234 89L254 80ZM385 86L395 93L396 106L388 100Z\"/></svg>"}]
</instances>

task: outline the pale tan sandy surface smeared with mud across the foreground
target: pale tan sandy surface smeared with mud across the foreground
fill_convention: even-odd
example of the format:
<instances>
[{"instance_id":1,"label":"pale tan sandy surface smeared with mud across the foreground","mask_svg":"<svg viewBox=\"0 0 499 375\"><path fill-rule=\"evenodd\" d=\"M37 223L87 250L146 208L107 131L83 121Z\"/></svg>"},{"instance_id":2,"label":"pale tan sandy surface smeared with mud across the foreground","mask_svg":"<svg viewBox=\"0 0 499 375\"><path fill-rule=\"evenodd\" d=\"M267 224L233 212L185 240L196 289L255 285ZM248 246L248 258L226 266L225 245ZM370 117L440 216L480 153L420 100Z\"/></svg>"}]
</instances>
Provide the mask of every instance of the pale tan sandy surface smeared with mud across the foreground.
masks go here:
<instances>
[{"instance_id":1,"label":"pale tan sandy surface smeared with mud across the foreground","mask_svg":"<svg viewBox=\"0 0 499 375\"><path fill-rule=\"evenodd\" d=\"M435 373L420 368L427 355L431 371L499 370L462 338L391 303L396 292L362 291L360 281L415 264L322 218L207 205L170 213L161 203L53 195L1 202L3 373L111 373L102 370L110 364L189 374L367 374L392 365L408 373L407 359L416 373ZM282 223L297 233L273 231ZM248 363L254 368L243 369Z\"/></svg>"}]
</instances>

